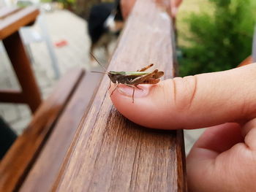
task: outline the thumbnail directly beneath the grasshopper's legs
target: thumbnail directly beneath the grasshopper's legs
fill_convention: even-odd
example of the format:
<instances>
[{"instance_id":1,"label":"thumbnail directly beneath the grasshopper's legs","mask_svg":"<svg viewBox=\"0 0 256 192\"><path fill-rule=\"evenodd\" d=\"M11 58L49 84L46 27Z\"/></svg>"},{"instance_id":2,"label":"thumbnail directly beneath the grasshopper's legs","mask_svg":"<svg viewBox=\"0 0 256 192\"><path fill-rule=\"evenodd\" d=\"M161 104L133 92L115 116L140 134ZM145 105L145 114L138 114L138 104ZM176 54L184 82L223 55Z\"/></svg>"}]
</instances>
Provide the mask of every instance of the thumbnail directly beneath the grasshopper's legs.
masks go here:
<instances>
[{"instance_id":1,"label":"thumbnail directly beneath the grasshopper's legs","mask_svg":"<svg viewBox=\"0 0 256 192\"><path fill-rule=\"evenodd\" d=\"M145 97L149 93L151 85L140 85L139 88L131 88L127 85L119 85L117 91L125 96L132 97L133 90L135 91L134 97Z\"/></svg>"}]
</instances>

